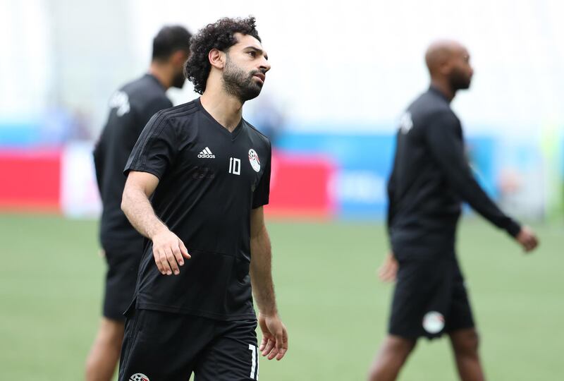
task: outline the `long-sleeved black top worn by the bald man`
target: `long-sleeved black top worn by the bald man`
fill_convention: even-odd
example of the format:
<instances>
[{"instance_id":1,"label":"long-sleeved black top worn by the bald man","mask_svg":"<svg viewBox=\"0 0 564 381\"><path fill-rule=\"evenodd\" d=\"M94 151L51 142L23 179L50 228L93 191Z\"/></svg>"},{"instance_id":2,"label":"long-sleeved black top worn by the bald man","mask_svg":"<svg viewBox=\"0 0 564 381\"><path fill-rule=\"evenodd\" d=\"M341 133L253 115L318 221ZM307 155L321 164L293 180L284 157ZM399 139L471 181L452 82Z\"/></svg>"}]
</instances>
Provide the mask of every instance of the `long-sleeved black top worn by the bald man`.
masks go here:
<instances>
[{"instance_id":1,"label":"long-sleeved black top worn by the bald man","mask_svg":"<svg viewBox=\"0 0 564 381\"><path fill-rule=\"evenodd\" d=\"M399 258L454 253L461 201L512 236L520 231L474 179L460 121L434 87L400 121L388 200L388 231Z\"/></svg>"}]
</instances>

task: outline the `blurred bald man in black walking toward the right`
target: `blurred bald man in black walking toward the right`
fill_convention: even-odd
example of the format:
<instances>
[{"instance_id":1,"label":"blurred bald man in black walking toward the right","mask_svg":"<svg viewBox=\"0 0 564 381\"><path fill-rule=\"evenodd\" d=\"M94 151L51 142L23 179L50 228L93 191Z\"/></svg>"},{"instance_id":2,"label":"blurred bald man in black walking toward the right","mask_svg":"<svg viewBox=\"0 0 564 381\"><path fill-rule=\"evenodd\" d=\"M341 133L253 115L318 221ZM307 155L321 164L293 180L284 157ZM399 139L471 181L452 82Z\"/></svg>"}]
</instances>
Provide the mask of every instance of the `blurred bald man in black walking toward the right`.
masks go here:
<instances>
[{"instance_id":1,"label":"blurred bald man in black walking toward the right","mask_svg":"<svg viewBox=\"0 0 564 381\"><path fill-rule=\"evenodd\" d=\"M461 380L484 380L478 335L455 255L461 202L515 238L525 251L533 232L503 214L480 188L465 157L462 127L450 109L458 90L470 87L465 47L439 41L427 49L431 86L400 119L396 157L388 182L391 253L379 270L396 282L388 336L369 372L371 381L396 380L419 337L448 334Z\"/></svg>"}]
</instances>

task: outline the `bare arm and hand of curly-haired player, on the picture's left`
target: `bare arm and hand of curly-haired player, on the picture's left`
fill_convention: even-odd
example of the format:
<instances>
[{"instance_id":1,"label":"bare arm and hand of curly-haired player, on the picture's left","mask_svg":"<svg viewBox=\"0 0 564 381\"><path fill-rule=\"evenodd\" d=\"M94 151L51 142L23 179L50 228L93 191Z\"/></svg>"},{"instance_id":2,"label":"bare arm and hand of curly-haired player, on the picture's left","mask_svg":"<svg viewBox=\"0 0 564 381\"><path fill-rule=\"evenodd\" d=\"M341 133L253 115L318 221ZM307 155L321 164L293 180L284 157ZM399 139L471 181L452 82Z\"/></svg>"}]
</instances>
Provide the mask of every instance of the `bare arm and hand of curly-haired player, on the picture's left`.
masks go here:
<instances>
[{"instance_id":1,"label":"bare arm and hand of curly-haired player, on the picture's left","mask_svg":"<svg viewBox=\"0 0 564 381\"><path fill-rule=\"evenodd\" d=\"M125 181L121 210L129 222L153 243L153 256L163 275L180 274L184 258L190 259L184 243L154 213L149 197L159 185L154 174L130 171Z\"/></svg>"}]
</instances>

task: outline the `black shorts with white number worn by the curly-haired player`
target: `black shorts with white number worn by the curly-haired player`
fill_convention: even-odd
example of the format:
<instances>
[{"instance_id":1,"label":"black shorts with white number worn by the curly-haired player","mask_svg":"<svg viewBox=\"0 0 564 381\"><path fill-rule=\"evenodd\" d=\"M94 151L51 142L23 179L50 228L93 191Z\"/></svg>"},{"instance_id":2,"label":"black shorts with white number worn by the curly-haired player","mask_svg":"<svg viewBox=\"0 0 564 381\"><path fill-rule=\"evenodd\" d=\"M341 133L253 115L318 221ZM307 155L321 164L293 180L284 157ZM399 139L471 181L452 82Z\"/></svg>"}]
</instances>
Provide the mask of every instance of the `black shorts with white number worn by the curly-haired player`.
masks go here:
<instances>
[{"instance_id":1,"label":"black shorts with white number worn by the curly-haired player","mask_svg":"<svg viewBox=\"0 0 564 381\"><path fill-rule=\"evenodd\" d=\"M120 381L239 381L259 379L257 320L130 308L119 366ZM143 378L145 377L145 378Z\"/></svg>"}]
</instances>

